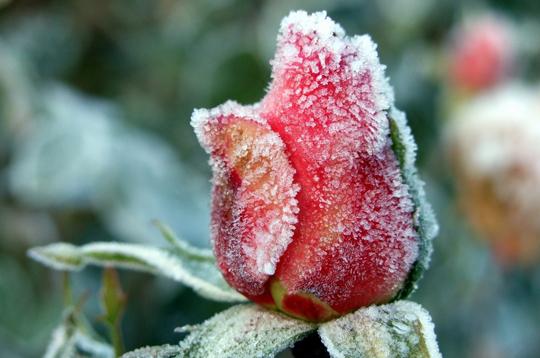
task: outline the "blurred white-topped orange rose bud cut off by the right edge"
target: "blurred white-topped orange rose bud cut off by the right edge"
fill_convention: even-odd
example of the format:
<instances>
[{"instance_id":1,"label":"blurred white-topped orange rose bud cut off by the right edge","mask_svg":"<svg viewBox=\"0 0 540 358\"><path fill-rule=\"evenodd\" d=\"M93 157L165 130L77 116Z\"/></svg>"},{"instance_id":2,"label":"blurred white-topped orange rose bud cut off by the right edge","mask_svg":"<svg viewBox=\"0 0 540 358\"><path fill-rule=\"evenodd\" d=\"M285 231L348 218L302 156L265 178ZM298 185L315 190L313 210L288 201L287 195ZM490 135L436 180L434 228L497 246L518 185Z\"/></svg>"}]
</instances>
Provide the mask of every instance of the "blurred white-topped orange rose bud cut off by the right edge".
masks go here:
<instances>
[{"instance_id":1,"label":"blurred white-topped orange rose bud cut off by the right edge","mask_svg":"<svg viewBox=\"0 0 540 358\"><path fill-rule=\"evenodd\" d=\"M505 265L540 258L540 91L509 85L474 98L447 128L457 194Z\"/></svg>"}]
</instances>

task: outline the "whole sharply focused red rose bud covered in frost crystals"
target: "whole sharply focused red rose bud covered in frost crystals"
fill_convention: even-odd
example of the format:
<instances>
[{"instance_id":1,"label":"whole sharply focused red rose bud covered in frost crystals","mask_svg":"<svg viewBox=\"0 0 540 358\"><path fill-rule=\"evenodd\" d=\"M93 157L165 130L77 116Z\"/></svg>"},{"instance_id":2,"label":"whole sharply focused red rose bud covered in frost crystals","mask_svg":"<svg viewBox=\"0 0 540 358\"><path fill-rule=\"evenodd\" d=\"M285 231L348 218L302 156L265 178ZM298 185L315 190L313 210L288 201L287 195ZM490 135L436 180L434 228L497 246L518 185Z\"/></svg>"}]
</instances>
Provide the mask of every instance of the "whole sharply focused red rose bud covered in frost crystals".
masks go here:
<instances>
[{"instance_id":1,"label":"whole sharply focused red rose bud covered in frost crystals","mask_svg":"<svg viewBox=\"0 0 540 358\"><path fill-rule=\"evenodd\" d=\"M225 279L310 321L407 296L436 225L376 46L324 12L293 12L271 64L260 103L192 117L211 157Z\"/></svg>"}]
</instances>

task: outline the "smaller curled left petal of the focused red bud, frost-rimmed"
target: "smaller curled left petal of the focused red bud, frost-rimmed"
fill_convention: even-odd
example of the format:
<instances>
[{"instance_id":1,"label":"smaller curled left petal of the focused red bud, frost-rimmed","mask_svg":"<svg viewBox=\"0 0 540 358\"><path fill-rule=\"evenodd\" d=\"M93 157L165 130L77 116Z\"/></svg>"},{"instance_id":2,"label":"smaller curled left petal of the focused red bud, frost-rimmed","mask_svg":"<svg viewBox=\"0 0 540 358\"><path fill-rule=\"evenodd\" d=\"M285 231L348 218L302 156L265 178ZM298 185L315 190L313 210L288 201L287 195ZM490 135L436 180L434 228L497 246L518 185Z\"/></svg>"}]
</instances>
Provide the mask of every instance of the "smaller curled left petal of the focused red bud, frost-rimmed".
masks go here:
<instances>
[{"instance_id":1,"label":"smaller curled left petal of the focused red bud, frost-rimmed","mask_svg":"<svg viewBox=\"0 0 540 358\"><path fill-rule=\"evenodd\" d=\"M253 107L233 102L192 118L214 173L212 236L220 269L251 297L264 293L291 242L298 186L285 147Z\"/></svg>"}]
</instances>

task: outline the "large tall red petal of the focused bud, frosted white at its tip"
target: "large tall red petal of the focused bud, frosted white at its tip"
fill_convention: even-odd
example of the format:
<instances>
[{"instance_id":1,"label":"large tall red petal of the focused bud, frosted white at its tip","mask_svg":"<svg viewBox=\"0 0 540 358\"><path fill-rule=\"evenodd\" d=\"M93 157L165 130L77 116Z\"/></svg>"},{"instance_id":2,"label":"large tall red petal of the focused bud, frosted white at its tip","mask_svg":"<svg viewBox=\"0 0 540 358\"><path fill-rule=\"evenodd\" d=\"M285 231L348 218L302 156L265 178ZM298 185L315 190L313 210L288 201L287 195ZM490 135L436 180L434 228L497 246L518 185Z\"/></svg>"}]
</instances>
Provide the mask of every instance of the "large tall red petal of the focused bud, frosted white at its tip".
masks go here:
<instances>
[{"instance_id":1,"label":"large tall red petal of the focused bud, frosted white at its tip","mask_svg":"<svg viewBox=\"0 0 540 358\"><path fill-rule=\"evenodd\" d=\"M305 316L298 295L338 313L388 301L418 245L375 45L345 37L325 13L296 12L282 22L273 65L261 117L283 139L301 186L299 222L275 276L289 295L276 303Z\"/></svg>"}]
</instances>

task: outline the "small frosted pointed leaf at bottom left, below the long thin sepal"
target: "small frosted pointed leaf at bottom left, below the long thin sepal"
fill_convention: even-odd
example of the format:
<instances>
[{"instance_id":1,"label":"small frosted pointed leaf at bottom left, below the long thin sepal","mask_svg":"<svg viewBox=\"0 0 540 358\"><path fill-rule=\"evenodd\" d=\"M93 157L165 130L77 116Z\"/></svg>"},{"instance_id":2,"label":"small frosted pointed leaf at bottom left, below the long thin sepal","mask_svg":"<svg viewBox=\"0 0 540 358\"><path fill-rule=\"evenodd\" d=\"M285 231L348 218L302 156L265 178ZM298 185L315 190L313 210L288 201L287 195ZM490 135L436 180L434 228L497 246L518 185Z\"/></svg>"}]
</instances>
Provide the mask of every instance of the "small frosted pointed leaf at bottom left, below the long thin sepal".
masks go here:
<instances>
[{"instance_id":1,"label":"small frosted pointed leaf at bottom left, below the long thin sepal","mask_svg":"<svg viewBox=\"0 0 540 358\"><path fill-rule=\"evenodd\" d=\"M82 326L71 309L65 314L64 321L52 333L44 358L113 358L113 348L88 332Z\"/></svg>"}]
</instances>

